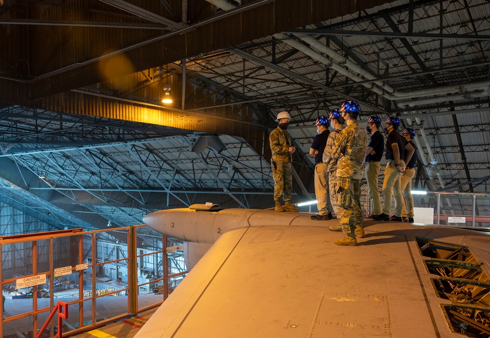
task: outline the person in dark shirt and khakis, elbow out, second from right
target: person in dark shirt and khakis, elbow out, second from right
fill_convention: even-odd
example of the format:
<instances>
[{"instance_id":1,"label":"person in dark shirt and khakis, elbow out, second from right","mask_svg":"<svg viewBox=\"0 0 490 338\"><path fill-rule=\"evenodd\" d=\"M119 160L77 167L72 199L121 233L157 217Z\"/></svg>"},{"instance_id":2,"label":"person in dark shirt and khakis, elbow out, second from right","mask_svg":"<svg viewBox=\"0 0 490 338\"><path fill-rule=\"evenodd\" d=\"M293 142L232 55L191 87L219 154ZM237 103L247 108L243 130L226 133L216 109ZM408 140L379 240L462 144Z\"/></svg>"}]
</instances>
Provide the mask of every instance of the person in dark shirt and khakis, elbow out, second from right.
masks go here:
<instances>
[{"instance_id":1,"label":"person in dark shirt and khakis, elbow out, second from right","mask_svg":"<svg viewBox=\"0 0 490 338\"><path fill-rule=\"evenodd\" d=\"M386 120L386 168L385 179L383 180L383 212L373 216L374 220L392 220L401 222L403 209L403 194L401 192L401 175L405 172L405 160L410 161L415 151L414 147L398 133L398 126L401 125L400 119L392 116ZM407 157L405 158L405 150ZM395 214L390 217L392 208L392 194L395 195Z\"/></svg>"}]
</instances>

